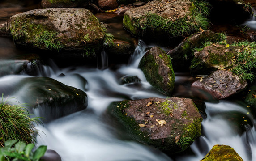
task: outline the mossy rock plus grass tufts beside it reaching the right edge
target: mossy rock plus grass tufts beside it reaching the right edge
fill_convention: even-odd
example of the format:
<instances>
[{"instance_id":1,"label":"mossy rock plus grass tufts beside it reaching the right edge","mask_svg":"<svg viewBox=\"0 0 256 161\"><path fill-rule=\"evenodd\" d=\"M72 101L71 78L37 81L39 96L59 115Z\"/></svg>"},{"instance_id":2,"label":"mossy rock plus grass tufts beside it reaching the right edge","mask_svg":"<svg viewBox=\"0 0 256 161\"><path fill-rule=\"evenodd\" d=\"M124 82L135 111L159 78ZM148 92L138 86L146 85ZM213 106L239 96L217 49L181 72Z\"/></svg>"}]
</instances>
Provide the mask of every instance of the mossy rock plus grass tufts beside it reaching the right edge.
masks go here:
<instances>
[{"instance_id":1,"label":"mossy rock plus grass tufts beside it reaching the right edge","mask_svg":"<svg viewBox=\"0 0 256 161\"><path fill-rule=\"evenodd\" d=\"M193 75L204 75L222 69L235 73L242 80L253 82L256 70L256 43L206 42L201 48L194 49L190 68Z\"/></svg>"}]
</instances>

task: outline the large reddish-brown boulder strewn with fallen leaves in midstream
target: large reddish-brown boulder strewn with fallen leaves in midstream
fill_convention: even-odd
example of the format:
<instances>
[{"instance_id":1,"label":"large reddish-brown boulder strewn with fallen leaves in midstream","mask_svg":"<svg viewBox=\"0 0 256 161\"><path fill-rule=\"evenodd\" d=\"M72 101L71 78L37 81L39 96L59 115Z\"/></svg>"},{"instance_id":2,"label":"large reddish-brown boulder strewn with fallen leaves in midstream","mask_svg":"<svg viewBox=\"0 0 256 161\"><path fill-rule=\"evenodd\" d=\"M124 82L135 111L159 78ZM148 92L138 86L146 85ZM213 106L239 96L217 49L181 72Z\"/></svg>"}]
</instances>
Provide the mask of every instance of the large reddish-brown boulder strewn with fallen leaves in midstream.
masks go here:
<instances>
[{"instance_id":1,"label":"large reddish-brown boulder strewn with fallen leaves in midstream","mask_svg":"<svg viewBox=\"0 0 256 161\"><path fill-rule=\"evenodd\" d=\"M133 139L168 154L188 148L200 136L202 117L188 98L147 98L109 107Z\"/></svg>"}]
</instances>

